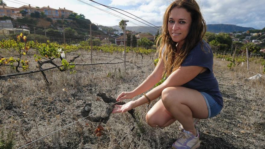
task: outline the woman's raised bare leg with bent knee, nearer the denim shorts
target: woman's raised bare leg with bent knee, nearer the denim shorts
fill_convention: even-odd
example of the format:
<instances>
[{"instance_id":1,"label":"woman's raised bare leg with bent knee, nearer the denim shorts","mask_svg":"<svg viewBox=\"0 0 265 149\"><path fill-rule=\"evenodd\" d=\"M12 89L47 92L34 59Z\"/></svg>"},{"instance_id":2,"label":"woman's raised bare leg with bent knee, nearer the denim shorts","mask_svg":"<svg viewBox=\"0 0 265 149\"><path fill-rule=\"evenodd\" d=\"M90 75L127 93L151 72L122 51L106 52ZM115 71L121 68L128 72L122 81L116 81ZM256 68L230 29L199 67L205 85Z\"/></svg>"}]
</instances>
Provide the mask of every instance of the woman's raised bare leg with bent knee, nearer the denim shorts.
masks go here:
<instances>
[{"instance_id":1,"label":"woman's raised bare leg with bent knee, nearer the denim shorts","mask_svg":"<svg viewBox=\"0 0 265 149\"><path fill-rule=\"evenodd\" d=\"M170 114L186 131L196 136L192 118L206 119L208 110L200 92L185 87L168 87L162 92L162 102Z\"/></svg>"}]
</instances>

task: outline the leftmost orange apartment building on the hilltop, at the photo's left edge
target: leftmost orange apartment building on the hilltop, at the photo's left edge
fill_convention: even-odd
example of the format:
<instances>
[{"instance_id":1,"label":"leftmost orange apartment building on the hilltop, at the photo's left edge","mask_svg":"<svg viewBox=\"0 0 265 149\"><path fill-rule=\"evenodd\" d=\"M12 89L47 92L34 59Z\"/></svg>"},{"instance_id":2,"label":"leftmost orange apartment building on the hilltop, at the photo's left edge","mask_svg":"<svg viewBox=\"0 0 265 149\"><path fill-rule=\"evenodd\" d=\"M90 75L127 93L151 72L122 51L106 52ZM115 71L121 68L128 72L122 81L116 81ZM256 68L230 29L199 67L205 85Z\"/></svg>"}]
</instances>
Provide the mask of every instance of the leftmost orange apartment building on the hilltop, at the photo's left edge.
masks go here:
<instances>
[{"instance_id":1,"label":"leftmost orange apartment building on the hilltop, at the photo's left edge","mask_svg":"<svg viewBox=\"0 0 265 149\"><path fill-rule=\"evenodd\" d=\"M2 5L0 6L0 17L4 16L12 17L14 19L22 18L22 14L19 14L17 8Z\"/></svg>"}]
</instances>

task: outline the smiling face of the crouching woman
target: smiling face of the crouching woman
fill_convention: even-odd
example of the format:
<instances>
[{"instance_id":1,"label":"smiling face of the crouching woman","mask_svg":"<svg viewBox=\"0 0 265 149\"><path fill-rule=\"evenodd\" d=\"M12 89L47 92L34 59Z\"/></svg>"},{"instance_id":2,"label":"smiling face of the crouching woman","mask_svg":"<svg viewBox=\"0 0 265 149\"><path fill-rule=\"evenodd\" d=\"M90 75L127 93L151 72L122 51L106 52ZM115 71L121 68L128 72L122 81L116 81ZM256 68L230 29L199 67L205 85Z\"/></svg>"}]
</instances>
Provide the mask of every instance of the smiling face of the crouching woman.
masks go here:
<instances>
[{"instance_id":1,"label":"smiling face of the crouching woman","mask_svg":"<svg viewBox=\"0 0 265 149\"><path fill-rule=\"evenodd\" d=\"M168 18L168 31L174 42L181 47L189 33L192 24L191 14L184 8L173 8Z\"/></svg>"}]
</instances>

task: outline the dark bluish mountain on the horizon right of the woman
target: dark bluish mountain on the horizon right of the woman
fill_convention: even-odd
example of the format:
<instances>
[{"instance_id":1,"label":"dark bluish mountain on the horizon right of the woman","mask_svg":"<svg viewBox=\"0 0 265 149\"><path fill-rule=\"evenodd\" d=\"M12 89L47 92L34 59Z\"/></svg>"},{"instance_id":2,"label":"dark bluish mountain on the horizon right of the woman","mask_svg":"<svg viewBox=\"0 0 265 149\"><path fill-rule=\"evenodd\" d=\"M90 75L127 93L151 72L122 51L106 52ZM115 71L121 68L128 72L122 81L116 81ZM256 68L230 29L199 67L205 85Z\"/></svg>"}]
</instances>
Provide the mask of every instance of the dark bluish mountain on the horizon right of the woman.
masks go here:
<instances>
[{"instance_id":1,"label":"dark bluish mountain on the horizon right of the woman","mask_svg":"<svg viewBox=\"0 0 265 149\"><path fill-rule=\"evenodd\" d=\"M212 33L232 33L234 31L245 32L247 30L252 30L252 27L242 27L232 24L207 24L207 31Z\"/></svg>"}]
</instances>

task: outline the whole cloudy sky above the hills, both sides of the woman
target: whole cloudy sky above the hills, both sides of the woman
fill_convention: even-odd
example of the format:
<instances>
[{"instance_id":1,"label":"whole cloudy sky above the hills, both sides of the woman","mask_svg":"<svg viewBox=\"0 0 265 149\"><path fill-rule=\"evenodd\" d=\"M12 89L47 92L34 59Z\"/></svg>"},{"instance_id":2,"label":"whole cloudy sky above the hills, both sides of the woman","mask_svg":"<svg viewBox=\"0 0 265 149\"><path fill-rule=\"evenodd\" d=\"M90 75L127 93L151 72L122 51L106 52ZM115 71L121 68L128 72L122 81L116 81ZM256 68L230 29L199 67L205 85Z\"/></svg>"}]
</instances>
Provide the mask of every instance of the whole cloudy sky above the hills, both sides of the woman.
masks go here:
<instances>
[{"instance_id":1,"label":"whole cloudy sky above the hills, both sides of the woman","mask_svg":"<svg viewBox=\"0 0 265 149\"><path fill-rule=\"evenodd\" d=\"M51 8L59 9L66 8L72 10L78 14L84 14L91 22L104 25L114 26L118 25L120 20L129 20L127 26L146 26L145 24L138 22L140 20L130 14L126 14L134 20L123 14L112 11L109 8L98 5L89 0L82 0L89 5L93 5L100 9L109 11L117 16L113 16L97 8L79 2L78 0L3 0L9 7L21 7L22 5L31 6L50 6ZM19 2L20 1L20 2ZM108 5L111 7L119 8L124 11L128 11L143 20L148 21L156 26L162 25L162 18L164 12L172 0L94 0L98 3ZM265 27L265 0L196 0L198 2L204 20L207 24L234 24L243 27L253 27L255 29L262 29ZM19 4L17 4L19 3ZM27 3L27 4L26 4ZM141 20L142 21L142 20ZM144 22L144 21L142 21ZM144 22L146 23L146 22ZM137 24L137 25L136 25ZM146 23L148 24L148 23ZM151 25L151 24L149 24ZM151 25L152 26L152 25Z\"/></svg>"}]
</instances>

